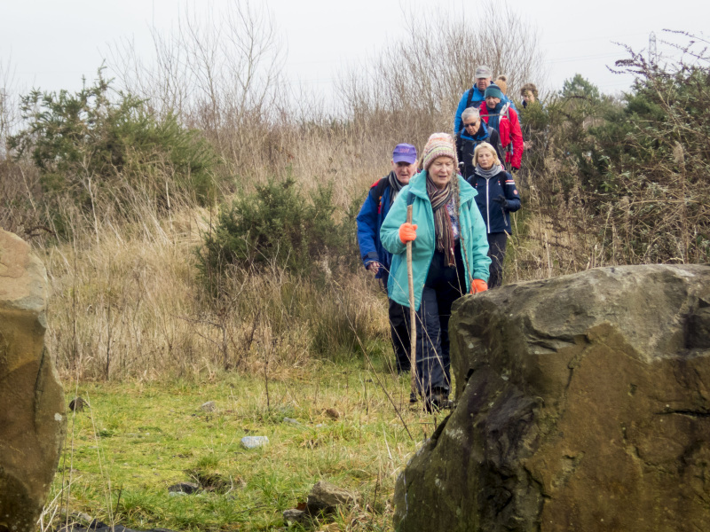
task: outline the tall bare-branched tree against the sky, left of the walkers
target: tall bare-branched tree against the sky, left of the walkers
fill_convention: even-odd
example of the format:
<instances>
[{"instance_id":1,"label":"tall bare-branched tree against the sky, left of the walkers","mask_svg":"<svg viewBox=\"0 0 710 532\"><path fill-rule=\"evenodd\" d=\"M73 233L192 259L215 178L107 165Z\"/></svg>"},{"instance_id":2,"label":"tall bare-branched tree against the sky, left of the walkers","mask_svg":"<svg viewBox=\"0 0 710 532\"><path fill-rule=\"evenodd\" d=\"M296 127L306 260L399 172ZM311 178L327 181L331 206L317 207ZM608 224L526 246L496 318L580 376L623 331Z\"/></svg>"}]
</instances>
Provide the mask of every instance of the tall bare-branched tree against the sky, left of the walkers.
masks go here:
<instances>
[{"instance_id":1,"label":"tall bare-branched tree against the sky, left of the walkers","mask_svg":"<svg viewBox=\"0 0 710 532\"><path fill-rule=\"evenodd\" d=\"M122 85L160 113L178 113L203 129L230 160L243 162L256 131L277 112L284 54L272 14L232 0L206 17L186 12L176 32L153 32L154 62L130 41L110 49L109 66ZM262 128L263 129L263 128ZM260 129L261 130L261 129Z\"/></svg>"}]
</instances>

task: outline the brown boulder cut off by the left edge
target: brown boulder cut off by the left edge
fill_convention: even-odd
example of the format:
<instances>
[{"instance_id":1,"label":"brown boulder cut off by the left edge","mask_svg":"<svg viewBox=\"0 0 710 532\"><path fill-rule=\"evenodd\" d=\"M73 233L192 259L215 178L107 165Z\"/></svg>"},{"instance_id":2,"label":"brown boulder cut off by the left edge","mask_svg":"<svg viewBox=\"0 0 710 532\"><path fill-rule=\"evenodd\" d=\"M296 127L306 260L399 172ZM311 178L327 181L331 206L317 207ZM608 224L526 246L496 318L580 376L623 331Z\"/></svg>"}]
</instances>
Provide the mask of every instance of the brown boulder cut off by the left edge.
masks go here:
<instances>
[{"instance_id":1,"label":"brown boulder cut off by the left edge","mask_svg":"<svg viewBox=\"0 0 710 532\"><path fill-rule=\"evenodd\" d=\"M0 230L0 532L34 531L59 462L64 394L44 348L47 276Z\"/></svg>"}]
</instances>

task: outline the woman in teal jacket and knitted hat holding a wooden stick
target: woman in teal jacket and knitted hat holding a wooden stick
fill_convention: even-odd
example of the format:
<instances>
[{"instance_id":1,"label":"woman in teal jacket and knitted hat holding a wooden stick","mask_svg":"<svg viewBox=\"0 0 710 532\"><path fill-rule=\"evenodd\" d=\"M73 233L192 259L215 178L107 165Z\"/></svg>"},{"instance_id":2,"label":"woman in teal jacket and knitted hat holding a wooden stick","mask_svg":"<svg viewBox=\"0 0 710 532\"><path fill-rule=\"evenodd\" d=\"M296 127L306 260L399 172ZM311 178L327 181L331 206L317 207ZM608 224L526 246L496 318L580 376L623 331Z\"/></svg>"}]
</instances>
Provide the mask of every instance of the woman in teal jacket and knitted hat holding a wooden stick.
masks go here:
<instances>
[{"instance_id":1,"label":"woman in teal jacket and knitted hat holding a wooden stick","mask_svg":"<svg viewBox=\"0 0 710 532\"><path fill-rule=\"evenodd\" d=\"M380 239L392 254L389 296L407 308L406 242L412 242L416 380L431 411L448 403L452 303L464 293L487 290L491 260L485 223L474 200L477 192L456 173L454 139L446 133L432 135L424 147L422 165L424 170L399 192ZM412 205L412 223L406 223L408 204Z\"/></svg>"}]
</instances>

